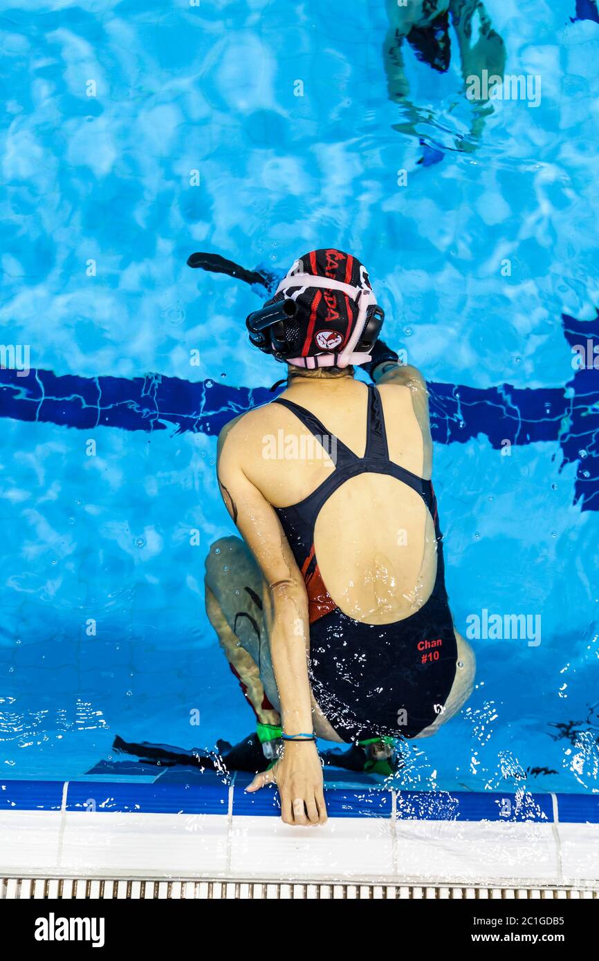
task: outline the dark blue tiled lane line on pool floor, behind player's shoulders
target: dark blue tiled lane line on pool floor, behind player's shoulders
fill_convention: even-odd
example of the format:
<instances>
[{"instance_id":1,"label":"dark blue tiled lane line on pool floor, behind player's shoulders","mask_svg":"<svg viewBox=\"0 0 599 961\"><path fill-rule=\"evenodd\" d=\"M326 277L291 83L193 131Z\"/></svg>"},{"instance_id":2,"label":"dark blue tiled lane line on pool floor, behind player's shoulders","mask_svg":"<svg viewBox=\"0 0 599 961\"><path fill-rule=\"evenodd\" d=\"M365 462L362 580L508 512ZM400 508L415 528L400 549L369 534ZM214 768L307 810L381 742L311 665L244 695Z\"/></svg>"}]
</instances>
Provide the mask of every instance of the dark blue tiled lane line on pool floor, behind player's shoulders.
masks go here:
<instances>
[{"instance_id":1,"label":"dark blue tiled lane line on pool floor, behind player's shoulders","mask_svg":"<svg viewBox=\"0 0 599 961\"><path fill-rule=\"evenodd\" d=\"M573 348L599 343L599 313L592 321L562 314L563 333ZM598 360L599 362L599 360ZM464 443L484 434L495 450L559 441L562 465L577 463L574 504L599 510L599 371L572 372L564 387L522 389L429 383L431 429L438 444ZM283 388L281 388L283 389ZM90 431L185 431L217 434L237 414L272 400L281 390L230 387L210 380L189 382L148 374L119 377L57 376L31 371L18 377L0 370L0 417L59 424Z\"/></svg>"}]
</instances>

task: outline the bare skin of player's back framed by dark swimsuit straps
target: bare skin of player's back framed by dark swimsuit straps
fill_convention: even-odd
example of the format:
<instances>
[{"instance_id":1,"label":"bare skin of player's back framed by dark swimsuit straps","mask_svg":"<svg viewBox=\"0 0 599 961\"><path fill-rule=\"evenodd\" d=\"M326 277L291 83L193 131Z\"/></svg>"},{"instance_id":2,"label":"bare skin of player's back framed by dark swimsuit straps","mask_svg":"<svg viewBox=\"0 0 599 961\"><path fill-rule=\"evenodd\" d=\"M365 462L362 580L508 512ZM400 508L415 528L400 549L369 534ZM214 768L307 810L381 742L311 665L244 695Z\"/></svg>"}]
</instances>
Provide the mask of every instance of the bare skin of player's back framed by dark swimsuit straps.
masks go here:
<instances>
[{"instance_id":1,"label":"bare skin of player's back framed by dark swimsuit straps","mask_svg":"<svg viewBox=\"0 0 599 961\"><path fill-rule=\"evenodd\" d=\"M294 379L295 380L295 379ZM424 384L380 387L388 458L418 478L430 478L431 438L423 416ZM311 411L334 435L324 447L289 408L269 404L235 426L245 475L275 508L301 504L331 478L335 438L362 457L370 392L352 378L298 378L281 395ZM359 472L337 486L314 517L313 547L320 577L343 613L367 624L409 617L429 599L437 574L435 524L411 486L387 473Z\"/></svg>"}]
</instances>

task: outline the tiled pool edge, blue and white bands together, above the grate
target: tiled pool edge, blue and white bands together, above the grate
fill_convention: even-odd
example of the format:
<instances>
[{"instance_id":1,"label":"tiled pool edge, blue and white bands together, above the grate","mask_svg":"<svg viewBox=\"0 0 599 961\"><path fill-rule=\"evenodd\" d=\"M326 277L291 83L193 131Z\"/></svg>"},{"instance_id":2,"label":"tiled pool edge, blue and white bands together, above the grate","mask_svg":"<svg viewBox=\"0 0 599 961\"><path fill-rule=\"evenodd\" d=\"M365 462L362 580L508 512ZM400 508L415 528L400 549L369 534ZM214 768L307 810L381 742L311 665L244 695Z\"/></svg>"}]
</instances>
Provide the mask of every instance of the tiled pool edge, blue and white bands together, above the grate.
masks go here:
<instances>
[{"instance_id":1,"label":"tiled pool edge, blue and white bands together, above the grate","mask_svg":"<svg viewBox=\"0 0 599 961\"><path fill-rule=\"evenodd\" d=\"M329 780L329 821L284 825L249 775L0 782L0 876L599 887L599 795L397 791Z\"/></svg>"}]
</instances>

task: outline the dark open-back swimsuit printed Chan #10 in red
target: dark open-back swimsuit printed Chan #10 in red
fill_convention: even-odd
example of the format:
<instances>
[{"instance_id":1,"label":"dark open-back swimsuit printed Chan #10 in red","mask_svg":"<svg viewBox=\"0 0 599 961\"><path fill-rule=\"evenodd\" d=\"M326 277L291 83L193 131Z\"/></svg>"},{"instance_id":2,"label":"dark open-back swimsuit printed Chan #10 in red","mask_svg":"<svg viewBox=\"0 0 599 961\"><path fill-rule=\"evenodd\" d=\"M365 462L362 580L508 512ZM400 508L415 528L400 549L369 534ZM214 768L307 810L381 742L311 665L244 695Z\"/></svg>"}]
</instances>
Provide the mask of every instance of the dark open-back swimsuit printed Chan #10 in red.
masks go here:
<instances>
[{"instance_id":1,"label":"dark open-back swimsuit printed Chan #10 in red","mask_svg":"<svg viewBox=\"0 0 599 961\"><path fill-rule=\"evenodd\" d=\"M325 450L337 452L335 470L312 494L299 504L275 509L306 581L313 695L344 741L384 735L414 737L431 725L451 691L458 657L433 484L389 460L381 397L372 385L368 391L363 457L327 431L306 407L284 398L273 402L291 410ZM339 610L322 581L314 554L314 525L322 506L341 484L360 474L385 474L412 487L435 522L437 578L433 592L419 610L394 624L363 624ZM373 524L377 523L381 519L373 518Z\"/></svg>"}]
</instances>

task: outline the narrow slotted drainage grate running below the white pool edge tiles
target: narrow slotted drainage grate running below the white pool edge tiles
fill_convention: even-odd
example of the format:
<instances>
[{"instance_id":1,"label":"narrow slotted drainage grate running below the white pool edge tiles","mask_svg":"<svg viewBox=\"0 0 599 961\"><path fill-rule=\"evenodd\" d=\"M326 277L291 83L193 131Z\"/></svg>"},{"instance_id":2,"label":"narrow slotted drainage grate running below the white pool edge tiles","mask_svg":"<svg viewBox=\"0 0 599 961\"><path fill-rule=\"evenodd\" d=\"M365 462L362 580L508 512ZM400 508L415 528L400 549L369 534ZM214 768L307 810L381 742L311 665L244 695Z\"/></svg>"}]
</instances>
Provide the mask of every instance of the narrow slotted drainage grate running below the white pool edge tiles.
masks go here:
<instances>
[{"instance_id":1,"label":"narrow slotted drainage grate running below the white pool edge tiles","mask_svg":"<svg viewBox=\"0 0 599 961\"><path fill-rule=\"evenodd\" d=\"M599 899L599 888L493 888L337 881L164 881L4 877L0 899Z\"/></svg>"}]
</instances>

